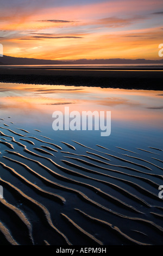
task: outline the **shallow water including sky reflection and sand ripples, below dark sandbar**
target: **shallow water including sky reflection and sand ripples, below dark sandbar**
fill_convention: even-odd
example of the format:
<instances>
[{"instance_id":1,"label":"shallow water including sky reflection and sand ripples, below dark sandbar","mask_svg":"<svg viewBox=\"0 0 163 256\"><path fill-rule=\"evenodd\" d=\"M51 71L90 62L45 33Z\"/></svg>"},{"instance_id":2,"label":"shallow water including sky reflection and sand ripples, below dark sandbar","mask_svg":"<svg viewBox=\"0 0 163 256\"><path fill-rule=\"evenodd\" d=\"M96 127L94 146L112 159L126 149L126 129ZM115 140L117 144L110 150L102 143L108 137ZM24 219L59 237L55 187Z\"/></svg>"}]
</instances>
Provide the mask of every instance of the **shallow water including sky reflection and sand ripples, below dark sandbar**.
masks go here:
<instances>
[{"instance_id":1,"label":"shallow water including sky reflection and sand ripples, below dark sandbar","mask_svg":"<svg viewBox=\"0 0 163 256\"><path fill-rule=\"evenodd\" d=\"M162 244L162 92L1 83L0 97L0 222L17 243ZM110 136L54 131L65 106L111 111Z\"/></svg>"}]
</instances>

